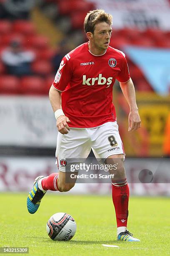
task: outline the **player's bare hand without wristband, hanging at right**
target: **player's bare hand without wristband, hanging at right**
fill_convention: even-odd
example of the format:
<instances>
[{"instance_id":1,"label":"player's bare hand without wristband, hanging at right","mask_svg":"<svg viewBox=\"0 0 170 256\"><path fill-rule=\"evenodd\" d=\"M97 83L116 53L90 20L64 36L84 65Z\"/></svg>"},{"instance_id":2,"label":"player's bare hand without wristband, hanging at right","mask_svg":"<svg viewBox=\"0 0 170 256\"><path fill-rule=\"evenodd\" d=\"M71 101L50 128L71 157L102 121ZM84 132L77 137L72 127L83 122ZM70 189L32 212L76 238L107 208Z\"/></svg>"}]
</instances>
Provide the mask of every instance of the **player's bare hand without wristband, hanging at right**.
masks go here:
<instances>
[{"instance_id":1,"label":"player's bare hand without wristband, hanging at right","mask_svg":"<svg viewBox=\"0 0 170 256\"><path fill-rule=\"evenodd\" d=\"M135 131L141 127L141 121L140 121L140 116L139 116L138 110L130 111L128 122L129 122L128 131Z\"/></svg>"}]
</instances>

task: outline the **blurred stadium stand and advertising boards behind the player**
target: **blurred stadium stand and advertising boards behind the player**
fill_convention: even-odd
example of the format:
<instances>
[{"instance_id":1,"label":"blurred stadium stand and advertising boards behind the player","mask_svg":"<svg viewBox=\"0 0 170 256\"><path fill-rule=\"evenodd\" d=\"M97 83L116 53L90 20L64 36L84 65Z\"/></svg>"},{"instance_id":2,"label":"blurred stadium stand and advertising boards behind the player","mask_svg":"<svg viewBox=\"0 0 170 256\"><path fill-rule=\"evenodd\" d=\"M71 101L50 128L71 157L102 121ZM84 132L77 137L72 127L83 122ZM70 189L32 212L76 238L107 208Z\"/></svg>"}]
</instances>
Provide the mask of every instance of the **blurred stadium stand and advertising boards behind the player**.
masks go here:
<instances>
[{"instance_id":1,"label":"blurred stadium stand and advertising boards behind the player","mask_svg":"<svg viewBox=\"0 0 170 256\"><path fill-rule=\"evenodd\" d=\"M129 108L115 82L113 102L131 193L170 195L170 2L25 0L24 12L22 6L5 9L5 2L19 1L0 0L0 55L18 40L35 59L32 74L20 77L8 74L0 59L0 191L28 192L35 177L56 171L57 132L48 91L62 56L87 41L86 13L103 8L113 15L110 46L126 54L142 120L142 128L128 133ZM157 182L150 183L147 172L144 182L133 179L143 169L157 173ZM76 184L68 193L109 192L110 184Z\"/></svg>"}]
</instances>

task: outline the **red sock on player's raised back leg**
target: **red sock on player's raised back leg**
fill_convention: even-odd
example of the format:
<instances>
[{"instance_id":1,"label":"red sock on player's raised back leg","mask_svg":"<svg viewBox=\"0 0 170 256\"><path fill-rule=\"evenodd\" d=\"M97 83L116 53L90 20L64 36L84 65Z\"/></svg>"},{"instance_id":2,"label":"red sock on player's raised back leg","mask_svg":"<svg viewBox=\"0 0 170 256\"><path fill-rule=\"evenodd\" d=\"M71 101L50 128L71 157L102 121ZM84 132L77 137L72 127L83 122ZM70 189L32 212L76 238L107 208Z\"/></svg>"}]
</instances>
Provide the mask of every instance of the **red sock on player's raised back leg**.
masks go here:
<instances>
[{"instance_id":1,"label":"red sock on player's raised back leg","mask_svg":"<svg viewBox=\"0 0 170 256\"><path fill-rule=\"evenodd\" d=\"M52 173L49 176L45 177L41 181L42 188L44 190L59 190L57 186L58 173Z\"/></svg>"}]
</instances>

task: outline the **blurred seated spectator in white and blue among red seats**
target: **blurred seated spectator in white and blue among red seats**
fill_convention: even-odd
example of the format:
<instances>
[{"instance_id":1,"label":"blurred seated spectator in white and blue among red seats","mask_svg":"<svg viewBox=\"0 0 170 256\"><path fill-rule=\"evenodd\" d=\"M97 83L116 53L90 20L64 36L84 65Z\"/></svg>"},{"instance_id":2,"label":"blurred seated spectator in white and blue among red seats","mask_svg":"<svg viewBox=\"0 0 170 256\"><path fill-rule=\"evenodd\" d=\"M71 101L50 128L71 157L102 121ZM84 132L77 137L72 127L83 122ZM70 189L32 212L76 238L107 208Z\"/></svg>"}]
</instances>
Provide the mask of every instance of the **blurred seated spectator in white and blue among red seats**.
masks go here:
<instances>
[{"instance_id":1,"label":"blurred seated spectator in white and blue among red seats","mask_svg":"<svg viewBox=\"0 0 170 256\"><path fill-rule=\"evenodd\" d=\"M1 59L8 74L18 77L32 74L31 63L35 59L35 54L32 51L23 50L17 40L12 41L10 47L2 51Z\"/></svg>"}]
</instances>

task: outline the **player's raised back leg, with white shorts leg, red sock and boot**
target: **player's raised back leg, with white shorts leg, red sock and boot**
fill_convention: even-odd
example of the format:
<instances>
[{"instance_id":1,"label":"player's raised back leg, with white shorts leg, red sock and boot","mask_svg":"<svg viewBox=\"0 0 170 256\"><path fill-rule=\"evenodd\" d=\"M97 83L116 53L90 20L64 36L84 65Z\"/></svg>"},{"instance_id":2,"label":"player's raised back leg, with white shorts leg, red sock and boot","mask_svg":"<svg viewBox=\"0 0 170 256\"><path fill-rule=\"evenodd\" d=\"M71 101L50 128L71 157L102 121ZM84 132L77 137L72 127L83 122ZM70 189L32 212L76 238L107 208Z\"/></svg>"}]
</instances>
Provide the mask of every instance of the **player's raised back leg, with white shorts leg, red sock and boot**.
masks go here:
<instances>
[{"instance_id":1,"label":"player's raised back leg, with white shorts leg, red sock and boot","mask_svg":"<svg viewBox=\"0 0 170 256\"><path fill-rule=\"evenodd\" d=\"M72 162L77 164L80 159L87 158L91 149L89 141L90 139L85 129L72 128L65 135L58 133L56 162L59 172L52 173L47 177L40 176L35 179L33 188L27 198L27 207L30 213L37 211L41 199L47 190L65 192L74 187L76 175L71 175L73 172L71 172L69 166ZM74 172L74 174L76 173Z\"/></svg>"}]
</instances>

